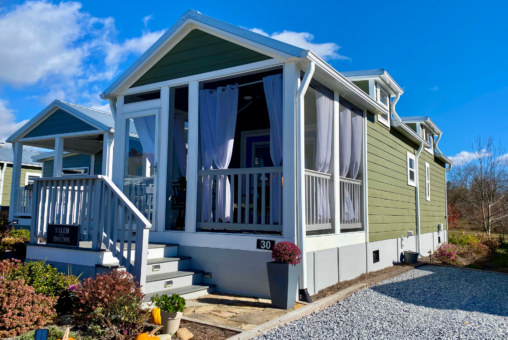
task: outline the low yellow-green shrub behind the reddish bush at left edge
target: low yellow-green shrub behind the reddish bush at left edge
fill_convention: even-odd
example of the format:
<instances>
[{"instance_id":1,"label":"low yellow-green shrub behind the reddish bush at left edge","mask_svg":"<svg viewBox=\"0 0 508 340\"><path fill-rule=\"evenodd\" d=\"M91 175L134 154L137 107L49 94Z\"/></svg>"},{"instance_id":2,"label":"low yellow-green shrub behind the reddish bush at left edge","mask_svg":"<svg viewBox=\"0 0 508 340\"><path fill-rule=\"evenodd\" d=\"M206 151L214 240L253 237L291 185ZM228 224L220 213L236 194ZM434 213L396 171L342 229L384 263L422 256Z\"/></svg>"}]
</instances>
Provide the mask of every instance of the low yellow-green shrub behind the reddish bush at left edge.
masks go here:
<instances>
[{"instance_id":1,"label":"low yellow-green shrub behind the reddish bush at left edge","mask_svg":"<svg viewBox=\"0 0 508 340\"><path fill-rule=\"evenodd\" d=\"M22 279L26 285L32 286L37 294L57 297L67 289L65 275L56 268L46 265L44 261L21 263L18 260L0 262L0 273L9 280Z\"/></svg>"}]
</instances>

